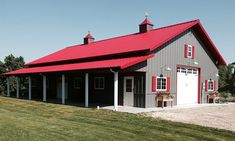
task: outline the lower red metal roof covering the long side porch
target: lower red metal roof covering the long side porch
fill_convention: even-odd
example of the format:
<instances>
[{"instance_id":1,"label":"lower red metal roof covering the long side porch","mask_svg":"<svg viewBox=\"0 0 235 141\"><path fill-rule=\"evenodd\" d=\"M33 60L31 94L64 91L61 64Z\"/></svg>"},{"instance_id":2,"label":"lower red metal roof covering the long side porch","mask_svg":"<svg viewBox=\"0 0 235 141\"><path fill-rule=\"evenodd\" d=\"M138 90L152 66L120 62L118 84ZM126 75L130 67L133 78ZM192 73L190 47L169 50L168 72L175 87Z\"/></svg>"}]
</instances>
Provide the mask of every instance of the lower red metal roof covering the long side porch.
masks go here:
<instances>
[{"instance_id":1,"label":"lower red metal roof covering the long side porch","mask_svg":"<svg viewBox=\"0 0 235 141\"><path fill-rule=\"evenodd\" d=\"M110 59L110 60L92 61L92 62L84 62L84 63L23 68L23 69L19 69L16 71L5 73L5 75L64 72L64 71L89 70L89 69L101 69L101 68L125 69L137 63L143 62L153 56L154 55L146 55L146 56L140 56L140 57Z\"/></svg>"}]
</instances>

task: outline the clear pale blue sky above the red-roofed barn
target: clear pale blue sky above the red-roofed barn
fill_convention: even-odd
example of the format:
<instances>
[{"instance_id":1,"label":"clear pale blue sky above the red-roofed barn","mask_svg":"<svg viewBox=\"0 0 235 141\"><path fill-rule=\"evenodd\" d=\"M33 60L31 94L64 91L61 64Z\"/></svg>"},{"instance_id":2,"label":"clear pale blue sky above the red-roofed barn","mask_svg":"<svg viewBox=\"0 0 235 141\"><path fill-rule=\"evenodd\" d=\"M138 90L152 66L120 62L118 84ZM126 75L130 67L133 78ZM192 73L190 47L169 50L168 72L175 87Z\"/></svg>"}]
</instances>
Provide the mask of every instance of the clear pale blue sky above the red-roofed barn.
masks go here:
<instances>
[{"instance_id":1,"label":"clear pale blue sky above the red-roofed barn","mask_svg":"<svg viewBox=\"0 0 235 141\"><path fill-rule=\"evenodd\" d=\"M200 19L228 63L235 61L234 0L0 0L0 60L26 62L80 44L138 31L144 13L155 28Z\"/></svg>"}]
</instances>

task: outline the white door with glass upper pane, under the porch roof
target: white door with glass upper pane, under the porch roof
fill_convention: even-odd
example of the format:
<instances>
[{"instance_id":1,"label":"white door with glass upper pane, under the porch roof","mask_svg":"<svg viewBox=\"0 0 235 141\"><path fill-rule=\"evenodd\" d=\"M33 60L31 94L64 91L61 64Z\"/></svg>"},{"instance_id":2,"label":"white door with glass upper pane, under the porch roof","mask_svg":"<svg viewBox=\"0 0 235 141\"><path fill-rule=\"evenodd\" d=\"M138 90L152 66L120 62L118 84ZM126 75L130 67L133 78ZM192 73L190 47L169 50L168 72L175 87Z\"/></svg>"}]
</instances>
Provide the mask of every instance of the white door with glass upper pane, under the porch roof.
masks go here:
<instances>
[{"instance_id":1,"label":"white door with glass upper pane, under the porch roof","mask_svg":"<svg viewBox=\"0 0 235 141\"><path fill-rule=\"evenodd\" d=\"M134 77L124 77L124 106L134 106Z\"/></svg>"}]
</instances>

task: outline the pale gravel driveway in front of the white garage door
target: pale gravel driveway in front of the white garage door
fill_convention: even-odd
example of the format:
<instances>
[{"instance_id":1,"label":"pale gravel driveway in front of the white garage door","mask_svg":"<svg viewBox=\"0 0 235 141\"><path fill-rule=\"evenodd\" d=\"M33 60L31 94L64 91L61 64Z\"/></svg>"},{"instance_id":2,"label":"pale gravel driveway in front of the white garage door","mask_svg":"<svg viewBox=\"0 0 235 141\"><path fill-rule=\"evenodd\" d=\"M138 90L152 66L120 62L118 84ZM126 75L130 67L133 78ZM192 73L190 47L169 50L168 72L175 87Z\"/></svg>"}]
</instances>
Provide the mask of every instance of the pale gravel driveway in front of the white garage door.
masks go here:
<instances>
[{"instance_id":1,"label":"pale gravel driveway in front of the white garage door","mask_svg":"<svg viewBox=\"0 0 235 141\"><path fill-rule=\"evenodd\" d=\"M149 112L144 115L235 131L235 103L210 104L210 106L191 108L173 108L171 110Z\"/></svg>"}]
</instances>

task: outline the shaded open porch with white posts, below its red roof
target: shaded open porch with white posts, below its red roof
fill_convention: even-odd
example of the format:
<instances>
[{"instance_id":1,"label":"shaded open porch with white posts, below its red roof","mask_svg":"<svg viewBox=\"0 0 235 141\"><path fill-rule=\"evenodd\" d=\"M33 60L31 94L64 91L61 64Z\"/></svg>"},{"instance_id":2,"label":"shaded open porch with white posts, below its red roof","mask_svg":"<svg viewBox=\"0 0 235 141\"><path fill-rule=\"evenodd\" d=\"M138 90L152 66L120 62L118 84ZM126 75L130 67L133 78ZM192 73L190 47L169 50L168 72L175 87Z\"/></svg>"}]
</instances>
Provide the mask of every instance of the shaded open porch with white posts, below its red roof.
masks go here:
<instances>
[{"instance_id":1,"label":"shaded open porch with white posts, below its red roof","mask_svg":"<svg viewBox=\"0 0 235 141\"><path fill-rule=\"evenodd\" d=\"M114 110L118 105L145 106L144 72L97 70L18 75L16 78L16 91L10 91L7 81L7 96L85 107L113 105ZM27 88L22 90L23 79L27 79Z\"/></svg>"}]
</instances>

